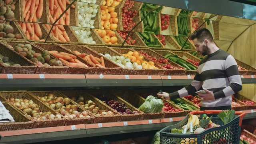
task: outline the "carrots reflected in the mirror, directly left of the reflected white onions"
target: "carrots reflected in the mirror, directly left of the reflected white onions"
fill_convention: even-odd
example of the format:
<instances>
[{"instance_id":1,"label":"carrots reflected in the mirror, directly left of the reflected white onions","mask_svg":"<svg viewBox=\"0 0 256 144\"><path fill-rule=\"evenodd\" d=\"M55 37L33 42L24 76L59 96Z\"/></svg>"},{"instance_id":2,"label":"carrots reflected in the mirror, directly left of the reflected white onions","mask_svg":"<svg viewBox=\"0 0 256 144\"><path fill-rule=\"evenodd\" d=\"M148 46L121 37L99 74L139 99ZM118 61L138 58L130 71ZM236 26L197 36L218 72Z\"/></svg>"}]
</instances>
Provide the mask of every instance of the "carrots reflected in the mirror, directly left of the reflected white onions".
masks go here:
<instances>
[{"instance_id":1,"label":"carrots reflected in the mirror, directly left of the reflected white onions","mask_svg":"<svg viewBox=\"0 0 256 144\"><path fill-rule=\"evenodd\" d=\"M49 16L50 23L53 24L60 15L66 10L68 5L70 4L69 0L48 0L49 8ZM71 8L75 8L72 4ZM66 33L63 25L70 25L70 8L64 13L64 15L56 22L54 25L53 31L51 32L52 36L56 40L60 40L61 42L70 42L68 34ZM45 25L48 30L52 27L52 25Z\"/></svg>"}]
</instances>

